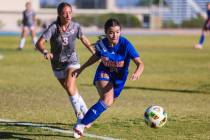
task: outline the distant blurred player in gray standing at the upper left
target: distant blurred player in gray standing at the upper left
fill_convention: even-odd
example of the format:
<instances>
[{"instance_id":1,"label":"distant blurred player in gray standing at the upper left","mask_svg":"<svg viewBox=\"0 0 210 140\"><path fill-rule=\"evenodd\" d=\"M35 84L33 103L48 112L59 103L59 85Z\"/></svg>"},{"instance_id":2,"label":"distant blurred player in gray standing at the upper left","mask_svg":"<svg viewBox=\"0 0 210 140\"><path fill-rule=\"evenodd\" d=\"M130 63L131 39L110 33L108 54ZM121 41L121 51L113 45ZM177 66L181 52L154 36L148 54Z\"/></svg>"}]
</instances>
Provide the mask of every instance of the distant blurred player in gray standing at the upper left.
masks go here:
<instances>
[{"instance_id":1,"label":"distant blurred player in gray standing at the upper left","mask_svg":"<svg viewBox=\"0 0 210 140\"><path fill-rule=\"evenodd\" d=\"M31 2L27 2L25 6L26 9L23 11L23 19L22 19L23 27L22 27L21 39L18 46L18 50L23 49L28 31L30 31L32 43L35 45L37 41L36 31L35 31L35 23L36 23L35 12L32 9Z\"/></svg>"}]
</instances>

